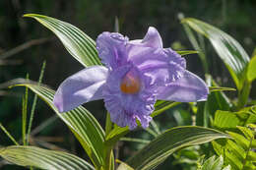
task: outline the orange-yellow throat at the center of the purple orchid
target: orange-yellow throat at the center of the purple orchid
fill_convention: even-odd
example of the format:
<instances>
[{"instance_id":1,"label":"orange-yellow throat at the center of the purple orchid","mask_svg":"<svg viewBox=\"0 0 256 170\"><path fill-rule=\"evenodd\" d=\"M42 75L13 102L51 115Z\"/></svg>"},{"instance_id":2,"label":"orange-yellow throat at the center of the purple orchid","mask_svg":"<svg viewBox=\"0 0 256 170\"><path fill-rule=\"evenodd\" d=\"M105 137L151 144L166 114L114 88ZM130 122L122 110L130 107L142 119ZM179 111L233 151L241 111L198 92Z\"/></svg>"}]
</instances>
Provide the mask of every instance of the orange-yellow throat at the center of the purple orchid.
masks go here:
<instances>
[{"instance_id":1,"label":"orange-yellow throat at the center of the purple orchid","mask_svg":"<svg viewBox=\"0 0 256 170\"><path fill-rule=\"evenodd\" d=\"M140 90L141 83L138 77L128 73L121 81L120 89L124 93L135 94Z\"/></svg>"}]
</instances>

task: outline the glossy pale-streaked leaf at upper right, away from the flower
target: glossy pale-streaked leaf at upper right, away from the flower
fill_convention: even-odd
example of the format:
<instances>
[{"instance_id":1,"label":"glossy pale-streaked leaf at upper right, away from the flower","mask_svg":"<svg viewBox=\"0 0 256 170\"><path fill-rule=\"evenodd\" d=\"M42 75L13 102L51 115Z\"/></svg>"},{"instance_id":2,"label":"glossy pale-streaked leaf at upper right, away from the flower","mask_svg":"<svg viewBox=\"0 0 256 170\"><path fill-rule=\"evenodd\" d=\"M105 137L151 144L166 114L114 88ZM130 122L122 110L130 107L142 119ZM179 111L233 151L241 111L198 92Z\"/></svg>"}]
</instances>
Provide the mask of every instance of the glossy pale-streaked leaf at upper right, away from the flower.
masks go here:
<instances>
[{"instance_id":1,"label":"glossy pale-streaked leaf at upper right, away from the flower","mask_svg":"<svg viewBox=\"0 0 256 170\"><path fill-rule=\"evenodd\" d=\"M181 22L198 33L205 35L211 41L218 55L224 61L235 85L240 90L243 85L246 67L250 60L243 47L219 28L192 18L183 19Z\"/></svg>"}]
</instances>

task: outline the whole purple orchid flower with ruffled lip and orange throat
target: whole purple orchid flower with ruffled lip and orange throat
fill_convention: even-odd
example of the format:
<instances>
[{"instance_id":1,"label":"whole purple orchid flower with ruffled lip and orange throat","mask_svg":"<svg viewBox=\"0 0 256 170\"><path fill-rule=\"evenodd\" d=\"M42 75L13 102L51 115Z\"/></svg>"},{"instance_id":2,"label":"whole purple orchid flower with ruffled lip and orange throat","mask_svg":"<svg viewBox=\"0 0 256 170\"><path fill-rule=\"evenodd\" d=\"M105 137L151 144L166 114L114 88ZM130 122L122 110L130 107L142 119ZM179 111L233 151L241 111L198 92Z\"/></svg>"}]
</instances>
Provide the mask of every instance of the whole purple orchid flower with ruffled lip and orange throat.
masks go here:
<instances>
[{"instance_id":1,"label":"whole purple orchid flower with ruffled lip and orange throat","mask_svg":"<svg viewBox=\"0 0 256 170\"><path fill-rule=\"evenodd\" d=\"M149 28L144 39L129 41L116 32L96 39L98 56L105 66L86 68L66 79L53 103L60 112L104 99L111 121L120 127L149 126L157 99L179 102L206 100L208 86L185 70L186 61L170 48L162 48L160 33Z\"/></svg>"}]
</instances>

